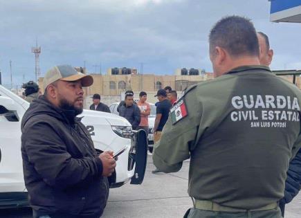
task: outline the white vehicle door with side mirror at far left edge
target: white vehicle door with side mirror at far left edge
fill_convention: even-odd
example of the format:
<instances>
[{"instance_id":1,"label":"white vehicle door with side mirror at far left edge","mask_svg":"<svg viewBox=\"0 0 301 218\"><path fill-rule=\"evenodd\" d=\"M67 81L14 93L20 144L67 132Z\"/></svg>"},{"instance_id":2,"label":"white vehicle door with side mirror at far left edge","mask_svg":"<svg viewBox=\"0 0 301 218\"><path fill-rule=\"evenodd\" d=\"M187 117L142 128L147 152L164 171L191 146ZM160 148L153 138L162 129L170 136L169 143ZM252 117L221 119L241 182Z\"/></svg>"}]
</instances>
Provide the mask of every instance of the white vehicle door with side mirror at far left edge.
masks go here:
<instances>
[{"instance_id":1,"label":"white vehicle door with side mirror at far left edge","mask_svg":"<svg viewBox=\"0 0 301 218\"><path fill-rule=\"evenodd\" d=\"M21 108L12 99L0 96L0 192L25 190L21 158L20 110Z\"/></svg>"}]
</instances>

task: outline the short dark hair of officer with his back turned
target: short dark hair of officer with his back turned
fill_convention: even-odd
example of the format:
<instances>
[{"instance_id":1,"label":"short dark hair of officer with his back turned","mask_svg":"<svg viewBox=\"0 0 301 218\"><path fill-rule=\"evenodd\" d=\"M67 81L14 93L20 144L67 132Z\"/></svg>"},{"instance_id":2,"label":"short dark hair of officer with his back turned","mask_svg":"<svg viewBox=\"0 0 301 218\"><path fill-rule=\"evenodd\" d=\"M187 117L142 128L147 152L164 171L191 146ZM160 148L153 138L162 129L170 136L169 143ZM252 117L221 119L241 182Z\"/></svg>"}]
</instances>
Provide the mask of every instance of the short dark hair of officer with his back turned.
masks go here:
<instances>
[{"instance_id":1,"label":"short dark hair of officer with his back turned","mask_svg":"<svg viewBox=\"0 0 301 218\"><path fill-rule=\"evenodd\" d=\"M219 20L209 35L210 53L216 46L226 49L231 56L259 56L256 30L246 17L230 16Z\"/></svg>"}]
</instances>

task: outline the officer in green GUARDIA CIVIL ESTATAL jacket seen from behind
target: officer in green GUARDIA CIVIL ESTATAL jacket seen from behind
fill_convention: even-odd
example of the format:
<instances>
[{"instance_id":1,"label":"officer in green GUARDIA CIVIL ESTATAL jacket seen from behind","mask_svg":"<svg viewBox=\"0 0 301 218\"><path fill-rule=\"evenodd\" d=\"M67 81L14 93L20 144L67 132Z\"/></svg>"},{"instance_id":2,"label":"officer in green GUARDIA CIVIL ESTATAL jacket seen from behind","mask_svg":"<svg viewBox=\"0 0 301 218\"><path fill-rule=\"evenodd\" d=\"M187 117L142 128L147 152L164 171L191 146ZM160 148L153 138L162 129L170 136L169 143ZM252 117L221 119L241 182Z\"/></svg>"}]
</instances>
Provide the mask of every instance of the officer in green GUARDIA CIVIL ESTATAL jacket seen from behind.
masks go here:
<instances>
[{"instance_id":1,"label":"officer in green GUARDIA CIVIL ESTATAL jacket seen from behind","mask_svg":"<svg viewBox=\"0 0 301 218\"><path fill-rule=\"evenodd\" d=\"M301 93L259 65L248 19L221 19L209 41L216 78L179 97L154 145L154 165L177 172L190 158L188 217L282 217L277 202L301 145Z\"/></svg>"}]
</instances>

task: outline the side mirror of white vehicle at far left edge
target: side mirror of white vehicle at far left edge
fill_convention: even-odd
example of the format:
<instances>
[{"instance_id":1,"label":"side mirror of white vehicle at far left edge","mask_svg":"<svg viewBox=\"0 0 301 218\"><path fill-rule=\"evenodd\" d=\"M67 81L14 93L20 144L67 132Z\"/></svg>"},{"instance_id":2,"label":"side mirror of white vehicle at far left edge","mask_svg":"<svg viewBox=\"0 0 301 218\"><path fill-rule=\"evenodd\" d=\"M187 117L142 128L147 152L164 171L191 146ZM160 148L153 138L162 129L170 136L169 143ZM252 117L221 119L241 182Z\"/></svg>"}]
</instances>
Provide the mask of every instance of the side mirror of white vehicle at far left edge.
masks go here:
<instances>
[{"instance_id":1,"label":"side mirror of white vehicle at far left edge","mask_svg":"<svg viewBox=\"0 0 301 218\"><path fill-rule=\"evenodd\" d=\"M19 121L17 107L11 98L0 96L0 116L4 116L10 122Z\"/></svg>"}]
</instances>

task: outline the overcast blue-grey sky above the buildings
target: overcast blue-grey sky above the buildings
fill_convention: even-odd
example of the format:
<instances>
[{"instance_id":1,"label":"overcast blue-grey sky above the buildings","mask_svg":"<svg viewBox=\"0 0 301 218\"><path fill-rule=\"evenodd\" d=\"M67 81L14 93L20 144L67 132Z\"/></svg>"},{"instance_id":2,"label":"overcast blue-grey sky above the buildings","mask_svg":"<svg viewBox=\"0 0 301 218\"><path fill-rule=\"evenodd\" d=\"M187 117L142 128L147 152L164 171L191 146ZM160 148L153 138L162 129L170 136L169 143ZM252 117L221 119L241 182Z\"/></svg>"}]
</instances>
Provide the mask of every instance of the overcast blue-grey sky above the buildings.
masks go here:
<instances>
[{"instance_id":1,"label":"overcast blue-grey sky above the buildings","mask_svg":"<svg viewBox=\"0 0 301 218\"><path fill-rule=\"evenodd\" d=\"M35 79L31 46L42 46L42 75L55 64L90 73L134 67L173 74L181 67L212 71L208 33L226 15L244 15L270 37L272 69L301 69L301 24L269 21L268 0L0 0L3 84Z\"/></svg>"}]
</instances>

